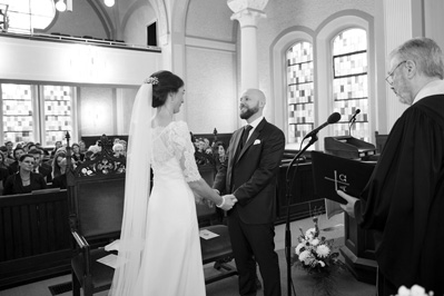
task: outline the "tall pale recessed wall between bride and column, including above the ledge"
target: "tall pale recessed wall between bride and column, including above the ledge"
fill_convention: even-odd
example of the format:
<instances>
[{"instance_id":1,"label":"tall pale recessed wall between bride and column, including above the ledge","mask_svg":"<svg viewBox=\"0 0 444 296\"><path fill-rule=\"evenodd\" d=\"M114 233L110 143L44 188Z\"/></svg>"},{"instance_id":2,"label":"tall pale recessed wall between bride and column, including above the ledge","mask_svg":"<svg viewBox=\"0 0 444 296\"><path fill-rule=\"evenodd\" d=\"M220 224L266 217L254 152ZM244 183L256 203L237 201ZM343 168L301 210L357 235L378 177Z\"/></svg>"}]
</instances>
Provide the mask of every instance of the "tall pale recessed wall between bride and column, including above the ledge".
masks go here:
<instances>
[{"instance_id":1,"label":"tall pale recessed wall between bride and column, including above the ledge","mask_svg":"<svg viewBox=\"0 0 444 296\"><path fill-rule=\"evenodd\" d=\"M226 1L190 0L185 31L186 120L195 134L233 132L238 121L237 24Z\"/></svg>"}]
</instances>

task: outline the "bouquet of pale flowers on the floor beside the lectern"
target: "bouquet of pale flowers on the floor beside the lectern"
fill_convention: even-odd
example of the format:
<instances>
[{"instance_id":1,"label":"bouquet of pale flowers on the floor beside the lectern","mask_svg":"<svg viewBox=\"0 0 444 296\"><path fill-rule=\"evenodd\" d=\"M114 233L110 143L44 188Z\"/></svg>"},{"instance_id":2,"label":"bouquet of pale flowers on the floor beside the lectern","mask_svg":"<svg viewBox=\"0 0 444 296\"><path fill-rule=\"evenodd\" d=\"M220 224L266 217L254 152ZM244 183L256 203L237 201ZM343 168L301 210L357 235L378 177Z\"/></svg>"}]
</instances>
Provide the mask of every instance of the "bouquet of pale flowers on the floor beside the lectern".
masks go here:
<instances>
[{"instance_id":1,"label":"bouquet of pale flowers on the floor beside the lectern","mask_svg":"<svg viewBox=\"0 0 444 296\"><path fill-rule=\"evenodd\" d=\"M300 229L299 244L292 257L292 265L305 269L316 282L313 294L319 292L325 296L337 295L335 276L345 268L338 259L339 253L334 251L334 239L320 237L318 217L313 218L315 227L304 233Z\"/></svg>"}]
</instances>

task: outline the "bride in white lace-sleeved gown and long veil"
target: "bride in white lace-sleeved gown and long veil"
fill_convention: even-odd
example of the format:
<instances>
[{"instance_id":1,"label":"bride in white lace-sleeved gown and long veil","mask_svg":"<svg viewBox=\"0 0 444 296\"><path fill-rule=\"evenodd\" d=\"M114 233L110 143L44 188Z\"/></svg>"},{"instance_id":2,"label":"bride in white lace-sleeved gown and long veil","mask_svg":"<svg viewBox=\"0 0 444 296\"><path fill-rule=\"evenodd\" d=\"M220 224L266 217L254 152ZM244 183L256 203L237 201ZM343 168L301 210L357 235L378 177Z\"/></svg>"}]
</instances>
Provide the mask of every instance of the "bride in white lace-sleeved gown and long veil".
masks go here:
<instances>
[{"instance_id":1,"label":"bride in white lace-sleeved gown and long veil","mask_svg":"<svg viewBox=\"0 0 444 296\"><path fill-rule=\"evenodd\" d=\"M200 177L187 124L174 121L184 93L179 77L158 71L136 96L118 267L109 295L205 295L195 203L207 198L228 210L237 200L220 197Z\"/></svg>"}]
</instances>

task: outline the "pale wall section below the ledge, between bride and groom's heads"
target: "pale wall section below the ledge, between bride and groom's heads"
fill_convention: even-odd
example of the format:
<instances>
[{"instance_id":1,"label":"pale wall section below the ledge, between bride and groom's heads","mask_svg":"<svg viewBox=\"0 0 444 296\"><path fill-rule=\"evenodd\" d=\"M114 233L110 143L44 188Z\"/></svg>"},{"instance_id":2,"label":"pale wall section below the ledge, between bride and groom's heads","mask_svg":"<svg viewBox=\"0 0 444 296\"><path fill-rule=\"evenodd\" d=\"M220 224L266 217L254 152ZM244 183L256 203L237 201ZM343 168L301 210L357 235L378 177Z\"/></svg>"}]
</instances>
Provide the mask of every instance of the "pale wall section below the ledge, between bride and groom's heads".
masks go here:
<instances>
[{"instance_id":1,"label":"pale wall section below the ledge, between bride and groom's heads","mask_svg":"<svg viewBox=\"0 0 444 296\"><path fill-rule=\"evenodd\" d=\"M194 134L233 132L237 119L235 52L187 47L185 106Z\"/></svg>"}]
</instances>

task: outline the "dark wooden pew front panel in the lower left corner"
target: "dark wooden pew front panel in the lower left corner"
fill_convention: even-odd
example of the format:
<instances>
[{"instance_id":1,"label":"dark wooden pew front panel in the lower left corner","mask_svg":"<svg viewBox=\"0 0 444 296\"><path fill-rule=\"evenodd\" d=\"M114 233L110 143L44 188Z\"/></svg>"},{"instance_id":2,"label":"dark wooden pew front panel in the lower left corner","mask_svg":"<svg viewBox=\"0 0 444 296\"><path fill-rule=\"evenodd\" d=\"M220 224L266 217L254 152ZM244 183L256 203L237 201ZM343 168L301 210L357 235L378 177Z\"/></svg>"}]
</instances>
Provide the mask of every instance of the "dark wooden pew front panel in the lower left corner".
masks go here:
<instances>
[{"instance_id":1,"label":"dark wooden pew front panel in the lower left corner","mask_svg":"<svg viewBox=\"0 0 444 296\"><path fill-rule=\"evenodd\" d=\"M70 270L67 190L0 197L0 289Z\"/></svg>"}]
</instances>

